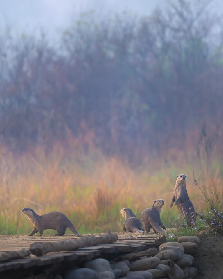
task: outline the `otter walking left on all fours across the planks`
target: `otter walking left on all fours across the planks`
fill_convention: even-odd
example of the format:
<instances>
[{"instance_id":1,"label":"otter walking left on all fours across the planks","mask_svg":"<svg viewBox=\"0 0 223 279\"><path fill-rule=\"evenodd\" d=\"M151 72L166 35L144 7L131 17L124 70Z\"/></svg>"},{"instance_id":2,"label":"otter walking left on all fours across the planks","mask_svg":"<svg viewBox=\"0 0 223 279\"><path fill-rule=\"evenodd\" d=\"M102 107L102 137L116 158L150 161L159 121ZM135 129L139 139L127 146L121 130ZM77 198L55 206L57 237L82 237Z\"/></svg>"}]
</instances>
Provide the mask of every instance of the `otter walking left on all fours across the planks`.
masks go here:
<instances>
[{"instance_id":1,"label":"otter walking left on all fours across the planks","mask_svg":"<svg viewBox=\"0 0 223 279\"><path fill-rule=\"evenodd\" d=\"M56 230L57 234L55 235L64 235L66 228L69 228L75 233L75 235L82 236L75 230L71 221L60 212L53 211L47 214L38 215L31 208L23 208L22 213L27 215L29 221L34 226L29 235L34 235L39 232L39 235L42 236L43 231L47 229Z\"/></svg>"}]
</instances>

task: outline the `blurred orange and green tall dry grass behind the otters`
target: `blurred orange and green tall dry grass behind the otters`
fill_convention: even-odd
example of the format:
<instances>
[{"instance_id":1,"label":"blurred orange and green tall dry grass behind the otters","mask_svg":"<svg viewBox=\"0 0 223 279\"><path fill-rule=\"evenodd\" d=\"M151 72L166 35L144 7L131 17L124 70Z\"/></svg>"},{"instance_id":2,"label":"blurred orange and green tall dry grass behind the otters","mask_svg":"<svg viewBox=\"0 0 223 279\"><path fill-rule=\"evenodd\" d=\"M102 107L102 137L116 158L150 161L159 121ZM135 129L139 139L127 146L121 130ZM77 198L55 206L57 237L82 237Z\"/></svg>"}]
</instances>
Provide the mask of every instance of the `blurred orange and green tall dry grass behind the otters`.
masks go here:
<instances>
[{"instance_id":1,"label":"blurred orange and green tall dry grass behind the otters","mask_svg":"<svg viewBox=\"0 0 223 279\"><path fill-rule=\"evenodd\" d=\"M212 165L208 173L203 167L205 149L200 147L199 158L194 150L169 149L162 159L148 160L132 169L118 158L106 158L93 146L84 154L75 139L69 151L56 143L48 153L37 147L32 153L15 155L1 146L0 234L31 231L32 225L21 213L24 207L38 214L63 212L80 233L103 232L107 228L121 231L121 208L130 207L140 217L141 210L151 207L157 198L166 202L161 219L170 227L178 216L176 208L169 207L177 174L187 174L188 194L197 212L203 195L194 184L190 164L194 164L201 183L207 180L205 187L211 188L213 180L221 185L223 172L216 159L217 149L208 158ZM208 180L210 175L212 180Z\"/></svg>"}]
</instances>

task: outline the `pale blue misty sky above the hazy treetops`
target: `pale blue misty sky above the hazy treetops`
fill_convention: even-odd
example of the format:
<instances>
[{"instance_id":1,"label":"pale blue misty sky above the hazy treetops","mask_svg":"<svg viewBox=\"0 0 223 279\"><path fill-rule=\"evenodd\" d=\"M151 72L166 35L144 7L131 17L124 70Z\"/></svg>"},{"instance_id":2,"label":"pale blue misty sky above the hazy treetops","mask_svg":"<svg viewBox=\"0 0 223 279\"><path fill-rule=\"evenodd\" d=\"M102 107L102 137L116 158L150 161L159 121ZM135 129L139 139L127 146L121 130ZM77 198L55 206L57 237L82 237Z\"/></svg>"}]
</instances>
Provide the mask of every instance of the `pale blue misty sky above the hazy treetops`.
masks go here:
<instances>
[{"instance_id":1,"label":"pale blue misty sky above the hazy treetops","mask_svg":"<svg viewBox=\"0 0 223 279\"><path fill-rule=\"evenodd\" d=\"M94 10L106 13L128 10L137 15L148 15L169 0L0 0L0 26L16 31L33 31L44 27L58 31L69 25L80 12Z\"/></svg>"}]
</instances>

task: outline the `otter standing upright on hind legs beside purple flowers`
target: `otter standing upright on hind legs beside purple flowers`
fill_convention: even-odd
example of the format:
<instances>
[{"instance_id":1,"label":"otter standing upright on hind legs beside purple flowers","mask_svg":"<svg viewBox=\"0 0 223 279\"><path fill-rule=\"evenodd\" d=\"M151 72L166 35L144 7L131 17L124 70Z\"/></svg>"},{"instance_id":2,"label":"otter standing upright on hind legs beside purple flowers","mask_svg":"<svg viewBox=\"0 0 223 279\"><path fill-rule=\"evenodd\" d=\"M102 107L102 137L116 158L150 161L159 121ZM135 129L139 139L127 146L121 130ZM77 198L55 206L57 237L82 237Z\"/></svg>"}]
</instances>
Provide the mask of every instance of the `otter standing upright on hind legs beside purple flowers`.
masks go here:
<instances>
[{"instance_id":1,"label":"otter standing upright on hind legs beside purple flowers","mask_svg":"<svg viewBox=\"0 0 223 279\"><path fill-rule=\"evenodd\" d=\"M176 185L173 189L173 198L170 203L170 207L177 205L180 217L183 222L186 222L188 226L196 224L196 213L193 203L187 194L185 174L179 174L177 176Z\"/></svg>"}]
</instances>

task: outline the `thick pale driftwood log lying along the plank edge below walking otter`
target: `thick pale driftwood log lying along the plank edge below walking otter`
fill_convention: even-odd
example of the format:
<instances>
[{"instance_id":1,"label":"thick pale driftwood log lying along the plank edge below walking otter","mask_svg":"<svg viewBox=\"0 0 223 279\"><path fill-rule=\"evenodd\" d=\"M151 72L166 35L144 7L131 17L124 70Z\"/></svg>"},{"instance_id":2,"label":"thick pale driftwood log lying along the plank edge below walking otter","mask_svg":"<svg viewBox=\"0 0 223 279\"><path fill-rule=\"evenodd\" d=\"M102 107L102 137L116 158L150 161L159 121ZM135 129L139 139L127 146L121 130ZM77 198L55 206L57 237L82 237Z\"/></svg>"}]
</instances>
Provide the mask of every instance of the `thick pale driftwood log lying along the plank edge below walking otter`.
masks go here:
<instances>
[{"instance_id":1,"label":"thick pale driftwood log lying along the plank edge below walking otter","mask_svg":"<svg viewBox=\"0 0 223 279\"><path fill-rule=\"evenodd\" d=\"M55 242L35 242L30 245L30 252L36 256L42 256L49 252L58 252L63 250L76 250L80 247L95 246L104 243L113 243L118 240L118 236L115 233L111 233L108 230L102 236L86 236L72 240L61 240Z\"/></svg>"}]
</instances>

